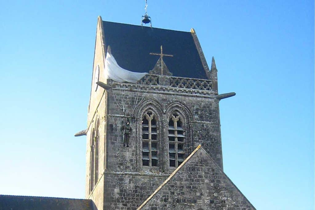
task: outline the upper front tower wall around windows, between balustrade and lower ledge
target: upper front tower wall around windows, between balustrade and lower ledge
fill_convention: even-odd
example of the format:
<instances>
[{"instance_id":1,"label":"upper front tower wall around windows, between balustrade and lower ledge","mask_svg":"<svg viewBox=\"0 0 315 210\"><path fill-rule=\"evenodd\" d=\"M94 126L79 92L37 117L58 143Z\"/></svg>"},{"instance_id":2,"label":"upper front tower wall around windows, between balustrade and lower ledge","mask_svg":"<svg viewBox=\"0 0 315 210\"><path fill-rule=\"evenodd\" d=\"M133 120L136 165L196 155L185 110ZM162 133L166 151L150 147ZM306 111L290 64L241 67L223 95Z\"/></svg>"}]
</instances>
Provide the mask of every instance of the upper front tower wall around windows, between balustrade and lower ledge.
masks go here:
<instances>
[{"instance_id":1,"label":"upper front tower wall around windows, between balustrade and lower ledge","mask_svg":"<svg viewBox=\"0 0 315 210\"><path fill-rule=\"evenodd\" d=\"M219 102L214 99L211 91L204 91L204 94L185 93L180 88L165 88L143 86L139 98L144 95L142 102L137 106L134 113L132 107L135 103L136 88L134 85L125 85L124 88L124 108L120 90L115 85L112 90L108 90L108 135L107 135L107 165L108 170L115 172L141 172L142 168L142 140L141 140L141 113L147 107L156 109L159 115L158 135L163 141L163 166L160 166L161 173L171 173L174 169L169 169L168 164L168 114L178 108L186 116L186 156L201 144L215 162L222 167L221 136L219 124ZM148 88L148 90L147 90ZM167 89L167 91L165 90ZM180 90L180 92L177 92ZM115 98L113 96L115 94ZM140 101L139 99L139 101ZM116 103L117 101L117 103ZM118 105L117 105L118 104ZM130 137L129 148L123 147L122 125L129 117L130 126L133 132ZM161 159L162 159L161 158ZM145 170L144 170L145 171Z\"/></svg>"}]
</instances>

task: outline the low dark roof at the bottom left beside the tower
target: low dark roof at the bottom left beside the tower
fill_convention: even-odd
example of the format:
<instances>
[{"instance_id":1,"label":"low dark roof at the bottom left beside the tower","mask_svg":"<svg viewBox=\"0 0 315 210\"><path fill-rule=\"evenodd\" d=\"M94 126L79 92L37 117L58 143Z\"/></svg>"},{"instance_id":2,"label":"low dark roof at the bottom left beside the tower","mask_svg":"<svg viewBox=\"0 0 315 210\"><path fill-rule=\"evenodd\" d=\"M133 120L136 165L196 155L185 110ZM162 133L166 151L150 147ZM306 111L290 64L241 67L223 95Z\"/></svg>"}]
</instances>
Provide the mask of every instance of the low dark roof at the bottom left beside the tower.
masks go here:
<instances>
[{"instance_id":1,"label":"low dark roof at the bottom left beside the tower","mask_svg":"<svg viewBox=\"0 0 315 210\"><path fill-rule=\"evenodd\" d=\"M93 210L88 199L0 195L1 210Z\"/></svg>"}]
</instances>

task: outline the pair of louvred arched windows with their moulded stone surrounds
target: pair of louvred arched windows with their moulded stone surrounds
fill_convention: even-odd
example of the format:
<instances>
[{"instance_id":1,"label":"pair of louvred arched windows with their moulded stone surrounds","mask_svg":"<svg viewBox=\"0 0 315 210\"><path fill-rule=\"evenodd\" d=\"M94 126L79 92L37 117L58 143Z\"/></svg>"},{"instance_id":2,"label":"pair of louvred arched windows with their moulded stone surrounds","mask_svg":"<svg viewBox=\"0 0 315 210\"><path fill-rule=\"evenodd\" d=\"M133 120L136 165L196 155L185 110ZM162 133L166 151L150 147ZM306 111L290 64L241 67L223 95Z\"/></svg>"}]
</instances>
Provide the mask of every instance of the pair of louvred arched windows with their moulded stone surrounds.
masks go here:
<instances>
[{"instance_id":1,"label":"pair of louvred arched windows with their moulded stone surrounds","mask_svg":"<svg viewBox=\"0 0 315 210\"><path fill-rule=\"evenodd\" d=\"M143 111L138 110L138 114L142 113L138 118L141 167L160 167L166 171L170 168L172 171L171 168L178 167L185 160L186 153L190 152L190 110L175 101L165 106L166 109L157 109L162 105L149 99L140 105Z\"/></svg>"}]
</instances>

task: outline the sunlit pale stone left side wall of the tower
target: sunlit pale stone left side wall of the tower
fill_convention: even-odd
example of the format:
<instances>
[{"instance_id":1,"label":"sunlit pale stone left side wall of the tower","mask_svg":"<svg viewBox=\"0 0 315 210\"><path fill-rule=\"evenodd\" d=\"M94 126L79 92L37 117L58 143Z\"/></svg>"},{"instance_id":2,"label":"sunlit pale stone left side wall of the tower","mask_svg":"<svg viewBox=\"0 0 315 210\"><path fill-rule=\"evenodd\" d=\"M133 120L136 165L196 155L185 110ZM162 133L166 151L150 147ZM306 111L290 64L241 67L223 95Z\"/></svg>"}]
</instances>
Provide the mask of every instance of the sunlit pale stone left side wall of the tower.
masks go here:
<instances>
[{"instance_id":1,"label":"sunlit pale stone left side wall of the tower","mask_svg":"<svg viewBox=\"0 0 315 210\"><path fill-rule=\"evenodd\" d=\"M92 199L98 210L103 209L103 198L104 198L104 169L105 169L105 158L106 158L106 91L97 86L97 81L105 81L103 74L104 70L104 40L102 35L102 20L98 18L98 24L96 27L96 38L95 38L95 54L93 61L93 74L92 74L92 86L91 96L88 107L88 122L87 122L87 141L86 141L86 179L85 179L85 197ZM97 76L97 66L99 66L99 77ZM99 126L97 128L97 122ZM94 189L90 192L90 167L91 167L91 140L93 129L99 130L99 156L98 156L98 180L96 181Z\"/></svg>"}]
</instances>

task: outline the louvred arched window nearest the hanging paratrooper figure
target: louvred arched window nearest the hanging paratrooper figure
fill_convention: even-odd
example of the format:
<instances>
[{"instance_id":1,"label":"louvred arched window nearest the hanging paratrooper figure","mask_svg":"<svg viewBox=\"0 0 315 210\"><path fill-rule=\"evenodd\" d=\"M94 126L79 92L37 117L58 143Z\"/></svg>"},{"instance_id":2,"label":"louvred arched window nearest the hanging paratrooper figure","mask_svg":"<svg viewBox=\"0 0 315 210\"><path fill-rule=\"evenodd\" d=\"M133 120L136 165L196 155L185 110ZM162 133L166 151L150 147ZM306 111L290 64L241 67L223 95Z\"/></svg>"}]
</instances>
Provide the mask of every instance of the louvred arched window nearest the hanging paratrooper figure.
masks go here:
<instances>
[{"instance_id":1,"label":"louvred arched window nearest the hanging paratrooper figure","mask_svg":"<svg viewBox=\"0 0 315 210\"><path fill-rule=\"evenodd\" d=\"M157 121L152 111L144 114L142 119L142 165L158 164Z\"/></svg>"}]
</instances>

